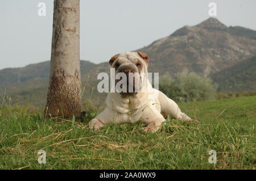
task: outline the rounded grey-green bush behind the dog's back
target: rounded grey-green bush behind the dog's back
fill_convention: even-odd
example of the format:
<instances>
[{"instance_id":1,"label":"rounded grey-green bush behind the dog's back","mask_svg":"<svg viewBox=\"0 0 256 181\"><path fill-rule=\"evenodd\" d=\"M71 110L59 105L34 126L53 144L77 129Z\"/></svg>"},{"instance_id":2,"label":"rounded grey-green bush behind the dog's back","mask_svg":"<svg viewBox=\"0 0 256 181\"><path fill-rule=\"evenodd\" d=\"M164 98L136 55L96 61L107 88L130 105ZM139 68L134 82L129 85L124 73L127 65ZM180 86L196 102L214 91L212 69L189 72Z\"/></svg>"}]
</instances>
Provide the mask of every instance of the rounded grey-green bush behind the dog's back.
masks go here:
<instances>
[{"instance_id":1,"label":"rounded grey-green bush behind the dog's back","mask_svg":"<svg viewBox=\"0 0 256 181\"><path fill-rule=\"evenodd\" d=\"M176 102L195 102L213 100L217 86L210 78L200 77L196 73L184 71L176 79L165 74L159 79L159 90Z\"/></svg>"}]
</instances>

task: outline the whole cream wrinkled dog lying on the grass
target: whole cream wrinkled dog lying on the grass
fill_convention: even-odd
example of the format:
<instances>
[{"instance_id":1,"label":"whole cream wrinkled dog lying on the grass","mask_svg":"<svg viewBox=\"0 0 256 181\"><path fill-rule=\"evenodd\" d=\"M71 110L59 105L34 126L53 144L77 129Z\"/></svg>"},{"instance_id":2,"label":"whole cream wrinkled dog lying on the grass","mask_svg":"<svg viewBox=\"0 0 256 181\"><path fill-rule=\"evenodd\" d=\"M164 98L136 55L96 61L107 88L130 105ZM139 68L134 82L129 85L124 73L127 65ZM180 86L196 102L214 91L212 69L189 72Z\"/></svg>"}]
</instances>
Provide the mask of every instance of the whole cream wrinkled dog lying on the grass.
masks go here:
<instances>
[{"instance_id":1,"label":"whole cream wrinkled dog lying on the grass","mask_svg":"<svg viewBox=\"0 0 256 181\"><path fill-rule=\"evenodd\" d=\"M94 131L98 131L100 127L104 127L111 121L134 123L141 120L147 125L143 130L154 133L158 131L167 115L174 119L199 123L181 112L177 104L163 92L152 88L147 78L148 61L149 58L146 54L141 52L125 52L110 59L110 65L117 70L117 73L124 72L127 77L130 76L128 72L140 75L144 73L145 76L141 76L138 93L110 92L106 98L105 110L90 121L90 129L94 128Z\"/></svg>"}]
</instances>

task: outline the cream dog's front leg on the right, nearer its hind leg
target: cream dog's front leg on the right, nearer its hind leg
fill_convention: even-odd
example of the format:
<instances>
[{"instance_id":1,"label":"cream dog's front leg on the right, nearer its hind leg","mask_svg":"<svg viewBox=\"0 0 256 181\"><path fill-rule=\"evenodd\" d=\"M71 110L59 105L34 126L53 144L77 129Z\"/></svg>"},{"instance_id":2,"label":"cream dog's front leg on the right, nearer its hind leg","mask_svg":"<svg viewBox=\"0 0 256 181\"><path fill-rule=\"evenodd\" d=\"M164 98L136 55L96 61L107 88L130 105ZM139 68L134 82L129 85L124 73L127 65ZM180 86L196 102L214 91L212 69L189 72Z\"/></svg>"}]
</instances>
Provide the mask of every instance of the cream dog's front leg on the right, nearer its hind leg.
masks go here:
<instances>
[{"instance_id":1,"label":"cream dog's front leg on the right, nearer its hind leg","mask_svg":"<svg viewBox=\"0 0 256 181\"><path fill-rule=\"evenodd\" d=\"M144 108L141 121L143 124L146 124L146 127L143 128L143 131L155 133L161 127L164 120L164 117L155 107L148 106Z\"/></svg>"}]
</instances>

